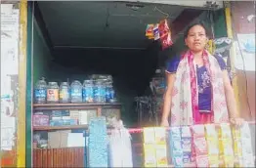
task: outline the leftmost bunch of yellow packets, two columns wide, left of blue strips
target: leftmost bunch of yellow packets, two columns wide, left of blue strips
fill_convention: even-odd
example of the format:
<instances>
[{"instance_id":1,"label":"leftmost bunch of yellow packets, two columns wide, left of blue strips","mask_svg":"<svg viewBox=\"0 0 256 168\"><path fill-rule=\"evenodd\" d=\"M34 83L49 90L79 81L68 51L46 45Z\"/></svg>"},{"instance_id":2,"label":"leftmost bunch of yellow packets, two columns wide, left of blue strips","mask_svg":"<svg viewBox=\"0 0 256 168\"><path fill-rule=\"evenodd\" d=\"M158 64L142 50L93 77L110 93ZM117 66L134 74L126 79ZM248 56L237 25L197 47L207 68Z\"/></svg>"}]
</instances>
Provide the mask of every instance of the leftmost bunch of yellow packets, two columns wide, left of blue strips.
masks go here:
<instances>
[{"instance_id":1,"label":"leftmost bunch of yellow packets, two columns wide, left of blue strips","mask_svg":"<svg viewBox=\"0 0 256 168\"><path fill-rule=\"evenodd\" d=\"M165 128L144 128L145 167L167 167Z\"/></svg>"}]
</instances>

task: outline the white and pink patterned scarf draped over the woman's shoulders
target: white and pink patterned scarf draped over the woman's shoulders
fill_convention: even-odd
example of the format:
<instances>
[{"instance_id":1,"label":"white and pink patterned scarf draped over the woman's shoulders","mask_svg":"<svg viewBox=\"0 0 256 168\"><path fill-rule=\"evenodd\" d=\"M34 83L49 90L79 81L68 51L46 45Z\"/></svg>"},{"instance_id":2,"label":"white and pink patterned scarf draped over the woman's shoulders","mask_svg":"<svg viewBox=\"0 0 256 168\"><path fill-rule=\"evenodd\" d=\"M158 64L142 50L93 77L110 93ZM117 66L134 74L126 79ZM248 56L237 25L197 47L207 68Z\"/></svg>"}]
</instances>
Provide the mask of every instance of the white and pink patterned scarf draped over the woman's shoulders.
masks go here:
<instances>
[{"instance_id":1,"label":"white and pink patterned scarf draped over the woman's shoulders","mask_svg":"<svg viewBox=\"0 0 256 168\"><path fill-rule=\"evenodd\" d=\"M206 50L202 55L211 80L211 108L212 122L229 121L228 108L225 97L222 70L217 60ZM171 126L193 125L201 120L198 111L198 89L193 55L188 51L179 63L176 79L172 90Z\"/></svg>"}]
</instances>

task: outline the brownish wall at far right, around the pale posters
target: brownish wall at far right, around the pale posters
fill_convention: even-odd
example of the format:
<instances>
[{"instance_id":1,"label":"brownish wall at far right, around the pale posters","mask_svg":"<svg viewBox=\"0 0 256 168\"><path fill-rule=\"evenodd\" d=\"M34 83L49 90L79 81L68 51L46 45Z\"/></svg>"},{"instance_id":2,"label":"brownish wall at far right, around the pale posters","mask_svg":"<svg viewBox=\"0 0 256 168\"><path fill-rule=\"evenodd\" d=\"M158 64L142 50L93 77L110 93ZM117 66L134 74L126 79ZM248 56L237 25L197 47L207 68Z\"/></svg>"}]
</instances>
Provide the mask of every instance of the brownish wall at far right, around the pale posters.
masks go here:
<instances>
[{"instance_id":1,"label":"brownish wall at far right, around the pale posters","mask_svg":"<svg viewBox=\"0 0 256 168\"><path fill-rule=\"evenodd\" d=\"M255 16L255 2L232 2L232 19L235 37L236 34L255 35L255 18L248 21L247 17L250 15ZM255 70L236 69L236 75L239 90L240 114L246 120L255 120Z\"/></svg>"}]
</instances>

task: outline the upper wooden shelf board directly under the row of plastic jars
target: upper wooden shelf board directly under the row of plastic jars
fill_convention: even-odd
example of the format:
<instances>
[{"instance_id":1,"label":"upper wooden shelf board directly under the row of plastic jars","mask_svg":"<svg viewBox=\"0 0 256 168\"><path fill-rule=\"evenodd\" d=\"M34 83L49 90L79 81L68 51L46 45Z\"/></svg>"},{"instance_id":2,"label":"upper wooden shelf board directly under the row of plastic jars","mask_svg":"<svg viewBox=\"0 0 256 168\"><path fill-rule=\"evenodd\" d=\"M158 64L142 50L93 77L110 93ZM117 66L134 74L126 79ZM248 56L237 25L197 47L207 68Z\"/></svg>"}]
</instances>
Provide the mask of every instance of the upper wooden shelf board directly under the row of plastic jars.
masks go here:
<instances>
[{"instance_id":1,"label":"upper wooden shelf board directly under the row of plastic jars","mask_svg":"<svg viewBox=\"0 0 256 168\"><path fill-rule=\"evenodd\" d=\"M34 104L35 110L59 110L59 109L98 109L98 108L120 108L119 103L95 103L95 104Z\"/></svg>"}]
</instances>

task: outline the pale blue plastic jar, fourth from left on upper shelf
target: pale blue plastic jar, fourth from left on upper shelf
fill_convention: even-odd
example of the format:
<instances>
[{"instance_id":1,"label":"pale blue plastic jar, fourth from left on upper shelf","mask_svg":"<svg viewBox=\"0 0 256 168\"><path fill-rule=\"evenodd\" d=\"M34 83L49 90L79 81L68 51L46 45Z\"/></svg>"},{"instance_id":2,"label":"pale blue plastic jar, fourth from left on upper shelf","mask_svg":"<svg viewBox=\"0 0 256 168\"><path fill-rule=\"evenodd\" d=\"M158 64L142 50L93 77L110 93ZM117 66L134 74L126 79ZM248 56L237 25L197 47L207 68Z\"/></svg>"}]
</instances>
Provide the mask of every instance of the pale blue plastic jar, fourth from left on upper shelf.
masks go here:
<instances>
[{"instance_id":1,"label":"pale blue plastic jar, fourth from left on upper shelf","mask_svg":"<svg viewBox=\"0 0 256 168\"><path fill-rule=\"evenodd\" d=\"M82 84L78 80L71 83L71 103L82 103Z\"/></svg>"}]
</instances>

